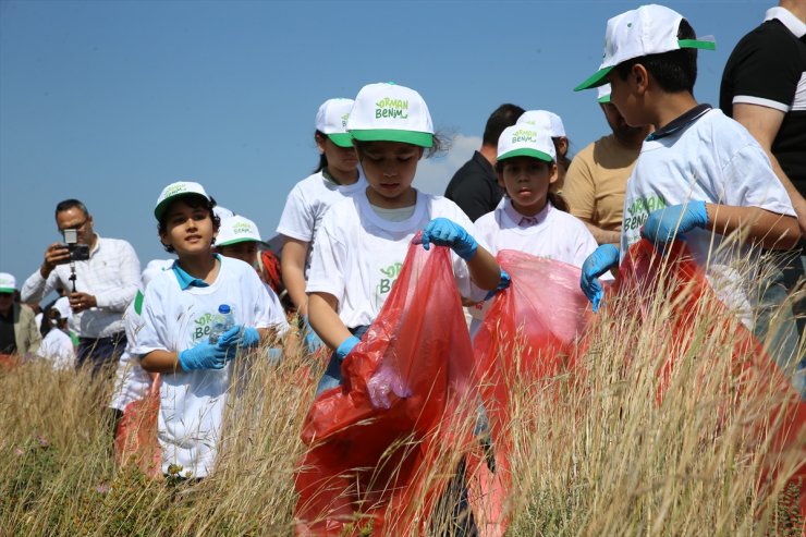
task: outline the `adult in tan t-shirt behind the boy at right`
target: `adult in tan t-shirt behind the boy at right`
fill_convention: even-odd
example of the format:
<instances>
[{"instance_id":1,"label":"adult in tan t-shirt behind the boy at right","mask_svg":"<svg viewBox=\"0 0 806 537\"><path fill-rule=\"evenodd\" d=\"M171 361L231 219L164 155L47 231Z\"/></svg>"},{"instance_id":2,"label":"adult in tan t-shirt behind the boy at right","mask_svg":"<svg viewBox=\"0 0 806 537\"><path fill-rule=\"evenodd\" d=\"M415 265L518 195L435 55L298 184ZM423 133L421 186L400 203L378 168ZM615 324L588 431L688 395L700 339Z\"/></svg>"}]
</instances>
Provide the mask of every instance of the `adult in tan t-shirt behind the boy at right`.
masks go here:
<instances>
[{"instance_id":1,"label":"adult in tan t-shirt behind the boy at right","mask_svg":"<svg viewBox=\"0 0 806 537\"><path fill-rule=\"evenodd\" d=\"M597 100L612 131L576 154L562 195L571 213L584 221L599 244L619 244L624 192L650 126L630 126L610 102L610 84Z\"/></svg>"}]
</instances>

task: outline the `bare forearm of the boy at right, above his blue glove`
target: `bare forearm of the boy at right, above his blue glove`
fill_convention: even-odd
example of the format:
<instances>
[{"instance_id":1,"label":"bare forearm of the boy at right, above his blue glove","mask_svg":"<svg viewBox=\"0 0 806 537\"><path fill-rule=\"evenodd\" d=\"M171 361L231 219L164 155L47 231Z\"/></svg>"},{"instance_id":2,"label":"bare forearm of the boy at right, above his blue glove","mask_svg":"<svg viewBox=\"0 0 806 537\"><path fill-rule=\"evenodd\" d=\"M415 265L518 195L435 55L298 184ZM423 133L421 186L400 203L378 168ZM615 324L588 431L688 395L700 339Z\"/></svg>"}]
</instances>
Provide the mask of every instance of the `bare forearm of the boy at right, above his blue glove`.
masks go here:
<instances>
[{"instance_id":1,"label":"bare forearm of the boy at right, above his blue glove","mask_svg":"<svg viewBox=\"0 0 806 537\"><path fill-rule=\"evenodd\" d=\"M706 229L722 235L740 230L747 240L767 249L790 249L801 239L795 217L779 215L760 207L734 207L706 204Z\"/></svg>"}]
</instances>

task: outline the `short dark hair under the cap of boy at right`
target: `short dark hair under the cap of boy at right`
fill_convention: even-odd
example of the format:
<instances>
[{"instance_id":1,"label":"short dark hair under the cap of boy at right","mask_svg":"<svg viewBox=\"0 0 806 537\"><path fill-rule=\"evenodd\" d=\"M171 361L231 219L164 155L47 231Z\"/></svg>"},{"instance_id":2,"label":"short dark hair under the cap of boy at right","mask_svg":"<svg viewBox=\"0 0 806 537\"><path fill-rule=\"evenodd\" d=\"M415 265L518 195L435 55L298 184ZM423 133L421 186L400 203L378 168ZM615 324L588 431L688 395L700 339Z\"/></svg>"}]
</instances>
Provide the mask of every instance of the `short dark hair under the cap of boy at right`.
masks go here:
<instances>
[{"instance_id":1,"label":"short dark hair under the cap of boy at right","mask_svg":"<svg viewBox=\"0 0 806 537\"><path fill-rule=\"evenodd\" d=\"M696 34L688 21L683 19L677 28L677 39L694 39ZM697 49L685 48L648 54L619 63L613 70L622 81L627 78L633 65L642 64L652 78L667 93L694 93L694 83L697 82Z\"/></svg>"}]
</instances>

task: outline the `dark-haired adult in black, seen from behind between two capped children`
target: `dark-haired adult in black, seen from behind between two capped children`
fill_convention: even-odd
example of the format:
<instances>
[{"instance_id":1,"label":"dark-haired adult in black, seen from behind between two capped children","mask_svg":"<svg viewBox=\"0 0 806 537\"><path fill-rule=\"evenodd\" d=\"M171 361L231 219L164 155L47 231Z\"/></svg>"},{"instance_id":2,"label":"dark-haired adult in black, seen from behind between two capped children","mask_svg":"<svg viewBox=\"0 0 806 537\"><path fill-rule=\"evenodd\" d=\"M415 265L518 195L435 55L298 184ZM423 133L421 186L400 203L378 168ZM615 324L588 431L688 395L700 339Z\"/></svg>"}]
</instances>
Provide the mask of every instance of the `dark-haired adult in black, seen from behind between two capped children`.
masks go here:
<instances>
[{"instance_id":1,"label":"dark-haired adult in black, seen from behind between two capped children","mask_svg":"<svg viewBox=\"0 0 806 537\"><path fill-rule=\"evenodd\" d=\"M514 125L523 113L524 109L516 105L506 103L498 107L487 119L481 147L448 183L445 197L459 205L474 222L481 215L493 210L501 202L503 191L498 185L494 170L498 138L504 129Z\"/></svg>"}]
</instances>

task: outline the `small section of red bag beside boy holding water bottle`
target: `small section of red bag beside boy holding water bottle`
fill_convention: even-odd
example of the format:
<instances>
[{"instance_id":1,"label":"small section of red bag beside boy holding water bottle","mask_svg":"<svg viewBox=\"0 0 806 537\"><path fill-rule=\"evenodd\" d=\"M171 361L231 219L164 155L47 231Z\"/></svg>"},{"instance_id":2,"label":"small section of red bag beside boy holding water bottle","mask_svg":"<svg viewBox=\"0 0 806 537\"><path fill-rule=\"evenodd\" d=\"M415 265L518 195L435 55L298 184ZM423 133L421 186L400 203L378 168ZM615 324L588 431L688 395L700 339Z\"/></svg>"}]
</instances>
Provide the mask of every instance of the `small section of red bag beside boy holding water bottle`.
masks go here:
<instances>
[{"instance_id":1,"label":"small section of red bag beside boy holding water bottle","mask_svg":"<svg viewBox=\"0 0 806 537\"><path fill-rule=\"evenodd\" d=\"M148 477L162 477L162 459L157 439L159 420L159 376L144 399L123 410L114 436L114 459L120 466L136 464Z\"/></svg>"}]
</instances>

